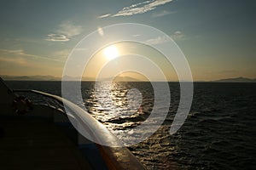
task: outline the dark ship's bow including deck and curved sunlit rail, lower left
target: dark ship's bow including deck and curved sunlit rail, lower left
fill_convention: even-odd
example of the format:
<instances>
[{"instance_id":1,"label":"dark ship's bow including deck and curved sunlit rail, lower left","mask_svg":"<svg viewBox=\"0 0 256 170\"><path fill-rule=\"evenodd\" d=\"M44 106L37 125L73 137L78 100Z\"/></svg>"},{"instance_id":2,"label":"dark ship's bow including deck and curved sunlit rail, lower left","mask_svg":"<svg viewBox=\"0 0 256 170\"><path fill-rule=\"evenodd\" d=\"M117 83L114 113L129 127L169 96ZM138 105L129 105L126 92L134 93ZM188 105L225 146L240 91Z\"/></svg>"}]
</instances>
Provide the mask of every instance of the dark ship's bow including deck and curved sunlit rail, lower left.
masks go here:
<instances>
[{"instance_id":1,"label":"dark ship's bow including deck and curved sunlit rail, lower left","mask_svg":"<svg viewBox=\"0 0 256 170\"><path fill-rule=\"evenodd\" d=\"M19 92L47 99L31 104ZM13 90L1 77L0 94L0 169L145 169L102 123L67 99L37 90ZM119 147L84 138L70 118L90 139Z\"/></svg>"}]
</instances>

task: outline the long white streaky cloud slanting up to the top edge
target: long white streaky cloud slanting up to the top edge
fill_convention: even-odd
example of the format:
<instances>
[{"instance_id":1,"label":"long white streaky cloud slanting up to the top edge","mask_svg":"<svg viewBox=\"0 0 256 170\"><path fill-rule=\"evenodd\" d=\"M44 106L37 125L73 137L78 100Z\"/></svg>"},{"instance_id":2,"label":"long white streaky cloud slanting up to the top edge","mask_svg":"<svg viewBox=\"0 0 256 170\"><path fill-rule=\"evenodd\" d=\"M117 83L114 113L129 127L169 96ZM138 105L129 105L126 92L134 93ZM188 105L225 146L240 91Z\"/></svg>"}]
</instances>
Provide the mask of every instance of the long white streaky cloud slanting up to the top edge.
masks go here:
<instances>
[{"instance_id":1,"label":"long white streaky cloud slanting up to the top edge","mask_svg":"<svg viewBox=\"0 0 256 170\"><path fill-rule=\"evenodd\" d=\"M172 0L149 0L142 3L135 3L129 7L125 7L120 10L117 14L111 15L112 17L116 16L130 16L133 14L143 14L148 11L154 10L157 6L164 5L166 3L171 3Z\"/></svg>"}]
</instances>

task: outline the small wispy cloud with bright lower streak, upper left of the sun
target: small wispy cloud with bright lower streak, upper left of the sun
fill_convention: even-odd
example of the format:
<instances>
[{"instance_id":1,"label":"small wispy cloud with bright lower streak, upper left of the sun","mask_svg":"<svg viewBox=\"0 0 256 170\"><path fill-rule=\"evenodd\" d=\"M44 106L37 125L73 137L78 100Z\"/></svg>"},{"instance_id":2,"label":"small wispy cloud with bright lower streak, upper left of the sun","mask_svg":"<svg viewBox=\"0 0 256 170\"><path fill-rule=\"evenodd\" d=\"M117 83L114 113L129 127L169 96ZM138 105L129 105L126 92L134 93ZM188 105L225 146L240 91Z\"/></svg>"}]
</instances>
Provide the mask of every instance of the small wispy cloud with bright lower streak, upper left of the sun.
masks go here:
<instances>
[{"instance_id":1,"label":"small wispy cloud with bright lower streak, upper left of the sun","mask_svg":"<svg viewBox=\"0 0 256 170\"><path fill-rule=\"evenodd\" d=\"M45 40L51 42L68 42L72 37L81 34L82 26L74 25L70 20L63 21L55 33L47 35Z\"/></svg>"}]
</instances>

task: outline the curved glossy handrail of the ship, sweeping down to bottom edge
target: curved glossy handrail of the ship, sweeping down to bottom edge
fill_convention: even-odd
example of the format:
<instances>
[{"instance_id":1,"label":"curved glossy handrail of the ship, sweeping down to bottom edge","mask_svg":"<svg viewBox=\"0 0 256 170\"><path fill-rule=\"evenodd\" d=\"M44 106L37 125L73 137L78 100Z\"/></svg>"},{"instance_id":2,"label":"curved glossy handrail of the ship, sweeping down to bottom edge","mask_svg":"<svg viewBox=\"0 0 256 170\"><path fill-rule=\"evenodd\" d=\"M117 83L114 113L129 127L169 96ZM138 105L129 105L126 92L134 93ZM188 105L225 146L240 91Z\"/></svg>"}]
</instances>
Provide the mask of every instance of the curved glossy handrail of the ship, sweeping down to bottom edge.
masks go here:
<instances>
[{"instance_id":1,"label":"curved glossy handrail of the ship, sweeping down to bottom edge","mask_svg":"<svg viewBox=\"0 0 256 170\"><path fill-rule=\"evenodd\" d=\"M26 92L33 94L40 94L44 97L50 99L55 99L61 105L65 103L65 108L68 110L66 114L71 122L73 123L79 131L86 131L90 135L90 139L96 141L97 147L99 148L103 159L107 162L109 169L145 169L145 167L133 156L122 142L117 139L116 136L111 133L107 127L105 127L101 122L98 122L96 118L91 116L88 112L84 111L79 105L75 105L67 99L63 99L60 96L54 94L47 94L40 92L38 90L28 90L28 89L15 89L13 92ZM68 112L72 112L71 114ZM102 144L119 146L119 147L109 147ZM122 147L120 147L122 146Z\"/></svg>"}]
</instances>

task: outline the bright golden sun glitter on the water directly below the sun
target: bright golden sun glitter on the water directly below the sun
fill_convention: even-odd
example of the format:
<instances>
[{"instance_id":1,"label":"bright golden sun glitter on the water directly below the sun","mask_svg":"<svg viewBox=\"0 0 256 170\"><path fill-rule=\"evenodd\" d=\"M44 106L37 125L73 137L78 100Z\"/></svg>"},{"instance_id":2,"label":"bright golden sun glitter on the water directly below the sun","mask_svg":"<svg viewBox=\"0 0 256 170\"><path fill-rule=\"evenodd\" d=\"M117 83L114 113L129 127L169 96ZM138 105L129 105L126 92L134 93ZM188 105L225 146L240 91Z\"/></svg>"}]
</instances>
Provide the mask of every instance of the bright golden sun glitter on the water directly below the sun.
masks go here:
<instances>
[{"instance_id":1,"label":"bright golden sun glitter on the water directly below the sun","mask_svg":"<svg viewBox=\"0 0 256 170\"><path fill-rule=\"evenodd\" d=\"M154 105L154 94L147 89L137 89L137 82L98 82L98 88L90 90L84 104L90 114L111 129L133 127L143 122ZM148 95L148 97L145 95Z\"/></svg>"}]
</instances>

